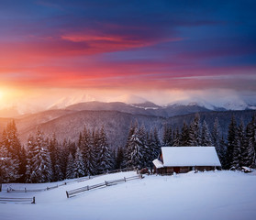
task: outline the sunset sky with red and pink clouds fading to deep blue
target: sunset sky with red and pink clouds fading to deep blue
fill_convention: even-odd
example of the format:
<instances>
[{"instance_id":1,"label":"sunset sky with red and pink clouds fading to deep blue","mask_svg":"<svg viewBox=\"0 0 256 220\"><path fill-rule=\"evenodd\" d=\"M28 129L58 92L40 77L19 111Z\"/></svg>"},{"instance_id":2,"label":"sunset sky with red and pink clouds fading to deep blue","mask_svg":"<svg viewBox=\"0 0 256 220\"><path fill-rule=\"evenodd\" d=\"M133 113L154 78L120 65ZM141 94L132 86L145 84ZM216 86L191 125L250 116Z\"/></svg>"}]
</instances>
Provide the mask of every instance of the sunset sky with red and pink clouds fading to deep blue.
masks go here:
<instances>
[{"instance_id":1,"label":"sunset sky with red and pink clouds fading to deep blue","mask_svg":"<svg viewBox=\"0 0 256 220\"><path fill-rule=\"evenodd\" d=\"M0 104L256 104L256 2L0 0Z\"/></svg>"}]
</instances>

